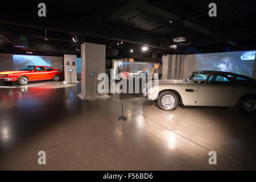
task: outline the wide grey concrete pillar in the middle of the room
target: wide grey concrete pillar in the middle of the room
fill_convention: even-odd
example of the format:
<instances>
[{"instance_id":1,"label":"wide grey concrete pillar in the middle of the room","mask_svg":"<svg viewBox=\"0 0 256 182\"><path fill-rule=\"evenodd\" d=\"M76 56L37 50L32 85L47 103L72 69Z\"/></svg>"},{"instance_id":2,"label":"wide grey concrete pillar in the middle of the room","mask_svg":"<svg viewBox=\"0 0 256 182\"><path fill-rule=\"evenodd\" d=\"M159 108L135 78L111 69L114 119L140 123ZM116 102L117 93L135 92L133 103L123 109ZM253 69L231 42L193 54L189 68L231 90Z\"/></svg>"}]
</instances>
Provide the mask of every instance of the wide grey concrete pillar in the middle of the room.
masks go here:
<instances>
[{"instance_id":1,"label":"wide grey concrete pillar in the middle of the room","mask_svg":"<svg viewBox=\"0 0 256 182\"><path fill-rule=\"evenodd\" d=\"M106 97L97 92L97 76L105 73L106 46L100 44L81 44L81 93L78 94L81 100L92 99L92 89L94 98ZM94 72L93 87L90 74Z\"/></svg>"}]
</instances>

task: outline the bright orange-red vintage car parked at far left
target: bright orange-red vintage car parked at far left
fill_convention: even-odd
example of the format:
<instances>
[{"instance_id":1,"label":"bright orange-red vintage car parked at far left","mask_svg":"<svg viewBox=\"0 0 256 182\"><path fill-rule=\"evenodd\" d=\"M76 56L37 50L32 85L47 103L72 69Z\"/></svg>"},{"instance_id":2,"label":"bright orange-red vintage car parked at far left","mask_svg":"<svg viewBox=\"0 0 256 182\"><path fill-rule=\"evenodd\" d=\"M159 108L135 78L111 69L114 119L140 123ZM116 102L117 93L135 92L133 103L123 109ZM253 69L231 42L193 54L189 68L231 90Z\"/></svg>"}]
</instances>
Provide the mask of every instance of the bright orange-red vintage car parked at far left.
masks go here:
<instances>
[{"instance_id":1,"label":"bright orange-red vintage car parked at far left","mask_svg":"<svg viewBox=\"0 0 256 182\"><path fill-rule=\"evenodd\" d=\"M18 81L26 85L28 81L53 80L59 81L63 71L46 66L26 66L19 71L0 72L0 80L5 83Z\"/></svg>"}]
</instances>

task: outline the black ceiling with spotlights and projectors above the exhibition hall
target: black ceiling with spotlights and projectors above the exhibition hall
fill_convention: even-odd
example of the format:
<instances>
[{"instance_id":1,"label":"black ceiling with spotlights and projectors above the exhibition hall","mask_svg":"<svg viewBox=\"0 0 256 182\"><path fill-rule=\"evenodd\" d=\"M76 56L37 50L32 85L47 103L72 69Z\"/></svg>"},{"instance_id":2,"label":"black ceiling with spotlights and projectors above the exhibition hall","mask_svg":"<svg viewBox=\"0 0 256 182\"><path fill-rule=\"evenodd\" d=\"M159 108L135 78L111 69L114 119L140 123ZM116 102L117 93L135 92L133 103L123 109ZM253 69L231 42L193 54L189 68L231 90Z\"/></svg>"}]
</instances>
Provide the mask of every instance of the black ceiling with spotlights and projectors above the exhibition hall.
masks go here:
<instances>
[{"instance_id":1,"label":"black ceiling with spotlights and projectors above the exhibition hall","mask_svg":"<svg viewBox=\"0 0 256 182\"><path fill-rule=\"evenodd\" d=\"M38 16L40 2L46 3L46 17ZM211 2L217 5L217 17L208 15ZM255 5L255 0L6 1L0 7L0 48L6 53L79 55L72 41L77 36L79 44L105 44L109 57L138 60L256 49ZM28 48L13 46L19 36L27 37ZM174 43L179 36L186 42ZM169 47L173 44L176 50ZM147 53L141 51L143 45L149 47Z\"/></svg>"}]
</instances>

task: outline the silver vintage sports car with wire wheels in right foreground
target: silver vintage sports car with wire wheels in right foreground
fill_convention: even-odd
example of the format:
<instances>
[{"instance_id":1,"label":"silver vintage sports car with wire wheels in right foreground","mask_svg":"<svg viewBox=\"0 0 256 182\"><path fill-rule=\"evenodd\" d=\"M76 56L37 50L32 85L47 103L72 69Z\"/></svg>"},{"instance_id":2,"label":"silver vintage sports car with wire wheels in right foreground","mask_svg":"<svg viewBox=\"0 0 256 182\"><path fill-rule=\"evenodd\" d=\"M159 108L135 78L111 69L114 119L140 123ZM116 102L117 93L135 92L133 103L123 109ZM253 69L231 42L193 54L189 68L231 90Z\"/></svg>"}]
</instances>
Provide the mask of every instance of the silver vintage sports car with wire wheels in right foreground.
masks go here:
<instances>
[{"instance_id":1,"label":"silver vintage sports car with wire wheels in right foreground","mask_svg":"<svg viewBox=\"0 0 256 182\"><path fill-rule=\"evenodd\" d=\"M244 113L256 111L256 80L236 73L196 71L185 80L148 82L144 97L157 100L163 110L184 106L238 106Z\"/></svg>"}]
</instances>

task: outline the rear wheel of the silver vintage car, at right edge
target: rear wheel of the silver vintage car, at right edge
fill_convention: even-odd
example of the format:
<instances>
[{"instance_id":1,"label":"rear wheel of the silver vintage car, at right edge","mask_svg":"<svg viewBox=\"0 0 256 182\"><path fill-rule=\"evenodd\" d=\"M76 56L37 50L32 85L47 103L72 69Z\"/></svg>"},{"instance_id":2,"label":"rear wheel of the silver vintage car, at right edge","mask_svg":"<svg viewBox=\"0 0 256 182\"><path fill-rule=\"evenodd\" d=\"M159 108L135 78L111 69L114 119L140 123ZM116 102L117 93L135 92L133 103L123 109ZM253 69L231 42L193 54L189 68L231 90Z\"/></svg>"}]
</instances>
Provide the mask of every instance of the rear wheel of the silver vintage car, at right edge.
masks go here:
<instances>
[{"instance_id":1,"label":"rear wheel of the silver vintage car, at right edge","mask_svg":"<svg viewBox=\"0 0 256 182\"><path fill-rule=\"evenodd\" d=\"M256 96L243 97L238 102L238 108L244 114L255 114L256 113Z\"/></svg>"}]
</instances>

